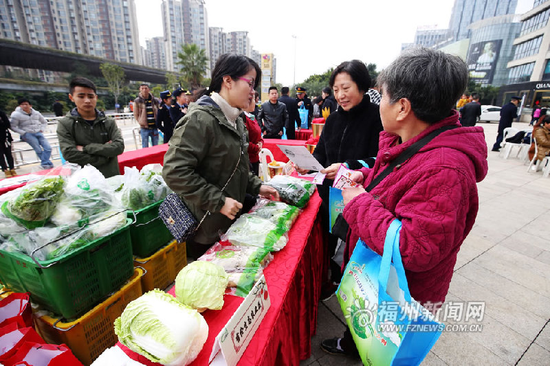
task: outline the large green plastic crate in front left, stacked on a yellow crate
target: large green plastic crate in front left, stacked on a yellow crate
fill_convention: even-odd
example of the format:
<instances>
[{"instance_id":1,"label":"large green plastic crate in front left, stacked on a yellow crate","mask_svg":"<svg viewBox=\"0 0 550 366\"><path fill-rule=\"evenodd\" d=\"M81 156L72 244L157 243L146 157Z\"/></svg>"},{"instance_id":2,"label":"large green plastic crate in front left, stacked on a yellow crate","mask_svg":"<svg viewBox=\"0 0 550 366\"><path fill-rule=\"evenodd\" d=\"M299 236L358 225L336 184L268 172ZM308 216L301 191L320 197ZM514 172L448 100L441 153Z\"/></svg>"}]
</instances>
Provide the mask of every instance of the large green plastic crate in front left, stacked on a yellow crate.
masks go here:
<instances>
[{"instance_id":1,"label":"large green plastic crate in front left, stacked on a yellow crate","mask_svg":"<svg viewBox=\"0 0 550 366\"><path fill-rule=\"evenodd\" d=\"M23 253L0 251L0 280L19 293L30 293L32 301L65 319L84 314L133 274L130 225L109 236L62 255L39 261ZM47 267L47 268L45 268Z\"/></svg>"}]
</instances>

